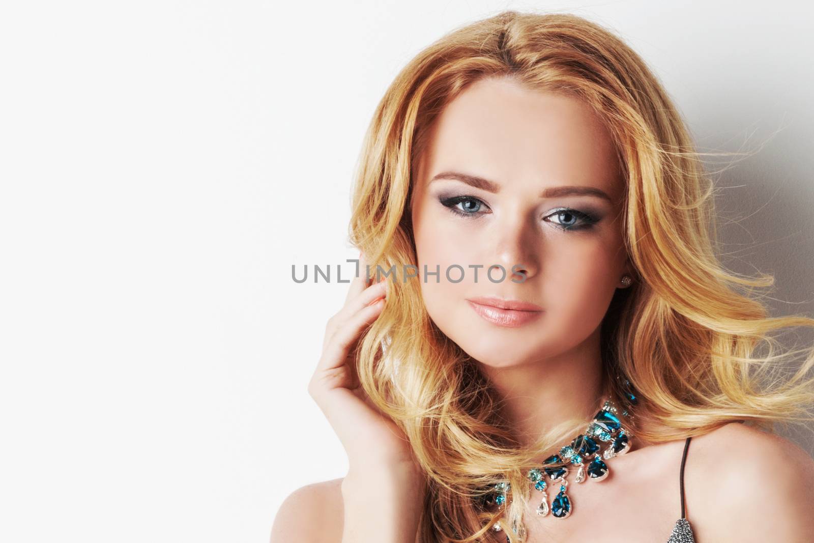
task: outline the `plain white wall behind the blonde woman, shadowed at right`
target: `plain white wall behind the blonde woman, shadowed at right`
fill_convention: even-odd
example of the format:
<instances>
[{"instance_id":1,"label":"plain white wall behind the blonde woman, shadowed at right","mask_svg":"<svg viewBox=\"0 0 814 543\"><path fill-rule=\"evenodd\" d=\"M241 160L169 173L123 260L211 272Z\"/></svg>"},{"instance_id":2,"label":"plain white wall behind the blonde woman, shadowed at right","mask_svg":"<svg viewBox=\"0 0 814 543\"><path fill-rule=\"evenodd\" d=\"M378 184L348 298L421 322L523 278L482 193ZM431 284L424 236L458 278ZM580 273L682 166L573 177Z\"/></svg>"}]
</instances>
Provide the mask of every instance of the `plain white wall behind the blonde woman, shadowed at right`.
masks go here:
<instances>
[{"instance_id":1,"label":"plain white wall behind the blonde woman, shadowed at right","mask_svg":"<svg viewBox=\"0 0 814 543\"><path fill-rule=\"evenodd\" d=\"M719 179L724 261L814 314L805 2L4 2L0 540L268 541L344 475L306 386L347 285L291 265L357 256L376 103L509 7L614 29L702 150L762 146Z\"/></svg>"}]
</instances>

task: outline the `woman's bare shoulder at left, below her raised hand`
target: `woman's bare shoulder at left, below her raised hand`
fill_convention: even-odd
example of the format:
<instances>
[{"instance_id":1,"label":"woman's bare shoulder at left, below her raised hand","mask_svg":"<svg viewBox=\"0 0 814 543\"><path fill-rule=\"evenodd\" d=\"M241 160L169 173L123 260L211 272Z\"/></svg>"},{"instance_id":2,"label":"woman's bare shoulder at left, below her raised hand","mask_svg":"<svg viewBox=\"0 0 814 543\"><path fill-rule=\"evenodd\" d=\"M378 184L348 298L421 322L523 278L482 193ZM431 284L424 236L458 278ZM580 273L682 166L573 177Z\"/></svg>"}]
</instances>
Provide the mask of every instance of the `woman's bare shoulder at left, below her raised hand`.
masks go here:
<instances>
[{"instance_id":1,"label":"woman's bare shoulder at left, below her raised hand","mask_svg":"<svg viewBox=\"0 0 814 543\"><path fill-rule=\"evenodd\" d=\"M274 517L270 543L340 543L342 480L306 484L289 494Z\"/></svg>"}]
</instances>

